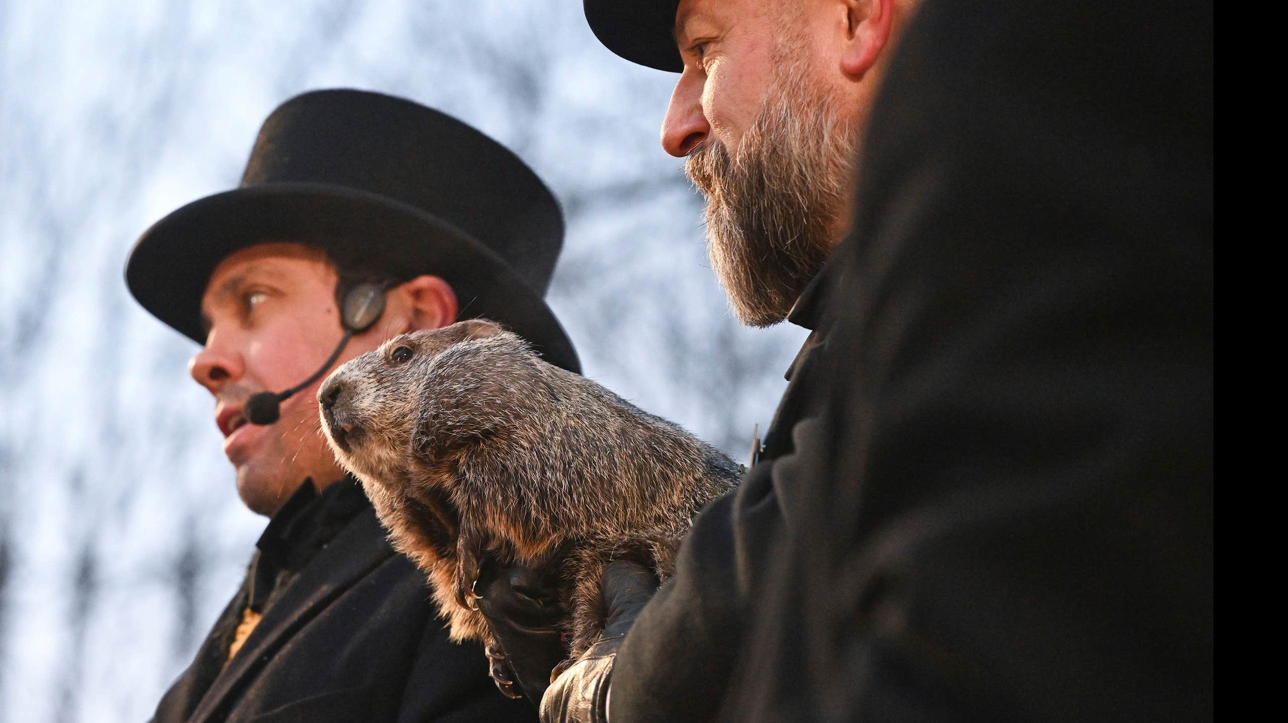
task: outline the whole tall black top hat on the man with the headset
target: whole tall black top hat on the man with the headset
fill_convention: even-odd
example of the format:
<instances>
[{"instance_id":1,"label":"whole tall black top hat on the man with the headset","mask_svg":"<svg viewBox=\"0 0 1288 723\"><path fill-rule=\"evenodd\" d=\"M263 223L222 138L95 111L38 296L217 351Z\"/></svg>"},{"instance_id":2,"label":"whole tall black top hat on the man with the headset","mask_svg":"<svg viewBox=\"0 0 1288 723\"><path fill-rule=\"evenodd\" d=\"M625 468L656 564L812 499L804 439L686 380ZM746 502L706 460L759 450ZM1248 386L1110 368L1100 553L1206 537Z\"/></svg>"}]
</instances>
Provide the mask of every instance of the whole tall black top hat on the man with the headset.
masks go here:
<instances>
[{"instance_id":1,"label":"whole tall black top hat on the man with the headset","mask_svg":"<svg viewBox=\"0 0 1288 723\"><path fill-rule=\"evenodd\" d=\"M241 185L144 232L125 282L202 343L211 271L265 241L318 246L399 280L442 277L460 318L502 322L547 362L580 371L542 300L563 244L559 205L514 153L451 116L361 90L287 100L264 121Z\"/></svg>"}]
</instances>

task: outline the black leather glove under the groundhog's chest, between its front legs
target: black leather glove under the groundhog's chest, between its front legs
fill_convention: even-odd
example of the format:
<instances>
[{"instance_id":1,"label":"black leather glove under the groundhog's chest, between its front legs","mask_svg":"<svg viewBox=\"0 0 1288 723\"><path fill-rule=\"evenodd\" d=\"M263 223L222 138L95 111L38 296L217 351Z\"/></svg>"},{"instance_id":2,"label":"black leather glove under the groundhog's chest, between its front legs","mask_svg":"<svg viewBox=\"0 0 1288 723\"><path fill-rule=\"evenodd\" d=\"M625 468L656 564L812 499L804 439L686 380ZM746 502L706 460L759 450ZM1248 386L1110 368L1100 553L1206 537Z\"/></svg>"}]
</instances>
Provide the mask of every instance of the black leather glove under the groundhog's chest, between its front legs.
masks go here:
<instances>
[{"instance_id":1,"label":"black leather glove under the groundhog's chest, between its front legs","mask_svg":"<svg viewBox=\"0 0 1288 723\"><path fill-rule=\"evenodd\" d=\"M523 566L502 567L488 561L479 570L474 593L496 641L486 650L496 687L510 697L527 696L540 706L550 670L568 657L556 628L563 610L554 581Z\"/></svg>"}]
</instances>

